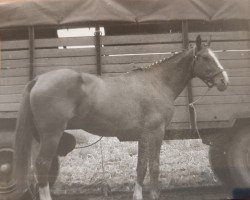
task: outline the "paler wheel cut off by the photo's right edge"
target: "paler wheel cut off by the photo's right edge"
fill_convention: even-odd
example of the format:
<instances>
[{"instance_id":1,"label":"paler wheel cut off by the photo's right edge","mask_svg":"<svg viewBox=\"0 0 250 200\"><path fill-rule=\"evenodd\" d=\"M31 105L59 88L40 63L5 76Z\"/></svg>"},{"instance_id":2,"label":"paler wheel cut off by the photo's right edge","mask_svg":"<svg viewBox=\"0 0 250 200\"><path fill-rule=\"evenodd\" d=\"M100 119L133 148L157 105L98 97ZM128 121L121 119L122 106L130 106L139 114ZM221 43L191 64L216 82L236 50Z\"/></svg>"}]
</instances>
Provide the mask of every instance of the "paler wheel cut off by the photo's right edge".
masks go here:
<instances>
[{"instance_id":1,"label":"paler wheel cut off by the photo's right edge","mask_svg":"<svg viewBox=\"0 0 250 200\"><path fill-rule=\"evenodd\" d=\"M228 150L230 174L236 187L250 187L250 126L239 130Z\"/></svg>"}]
</instances>

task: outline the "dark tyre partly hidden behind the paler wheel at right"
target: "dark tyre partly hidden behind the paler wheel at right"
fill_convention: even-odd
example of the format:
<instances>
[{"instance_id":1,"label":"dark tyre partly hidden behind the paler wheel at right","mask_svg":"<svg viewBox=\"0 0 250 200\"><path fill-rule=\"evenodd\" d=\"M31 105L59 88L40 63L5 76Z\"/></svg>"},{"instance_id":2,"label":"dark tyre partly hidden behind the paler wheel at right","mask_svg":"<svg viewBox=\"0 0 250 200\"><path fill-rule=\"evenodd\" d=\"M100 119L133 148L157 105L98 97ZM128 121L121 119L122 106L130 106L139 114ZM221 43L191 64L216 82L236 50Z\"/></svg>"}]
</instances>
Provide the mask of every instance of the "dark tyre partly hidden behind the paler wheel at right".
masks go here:
<instances>
[{"instance_id":1,"label":"dark tyre partly hidden behind the paler wheel at right","mask_svg":"<svg viewBox=\"0 0 250 200\"><path fill-rule=\"evenodd\" d=\"M232 186L234 181L228 166L229 141L223 137L216 140L209 148L209 162L214 174L225 186Z\"/></svg>"}]
</instances>

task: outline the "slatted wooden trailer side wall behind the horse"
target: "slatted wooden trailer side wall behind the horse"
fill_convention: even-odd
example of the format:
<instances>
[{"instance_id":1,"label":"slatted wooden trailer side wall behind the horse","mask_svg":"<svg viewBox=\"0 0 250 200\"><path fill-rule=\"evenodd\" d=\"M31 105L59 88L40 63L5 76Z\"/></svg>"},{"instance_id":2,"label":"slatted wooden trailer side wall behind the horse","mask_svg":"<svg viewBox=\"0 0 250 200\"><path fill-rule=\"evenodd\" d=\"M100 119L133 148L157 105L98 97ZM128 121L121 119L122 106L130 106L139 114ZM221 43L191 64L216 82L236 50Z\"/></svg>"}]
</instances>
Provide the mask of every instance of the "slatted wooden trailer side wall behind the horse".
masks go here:
<instances>
[{"instance_id":1,"label":"slatted wooden trailer side wall behind the horse","mask_svg":"<svg viewBox=\"0 0 250 200\"><path fill-rule=\"evenodd\" d=\"M248 31L188 33L192 44L197 34L204 40L211 37L230 76L225 92L215 88L196 106L199 127L229 127L235 117L250 117L250 36ZM31 78L44 72L68 68L96 74L95 37L51 38L1 42L0 118L15 118L21 93ZM34 46L34 59L30 57ZM72 48L68 48L73 46ZM101 36L103 76L115 76L171 56L183 49L183 34L150 34ZM237 50L237 51L236 51ZM33 67L31 68L31 62ZM206 92L198 79L192 81L194 100ZM175 102L176 112L170 129L189 129L190 116L187 90Z\"/></svg>"}]
</instances>

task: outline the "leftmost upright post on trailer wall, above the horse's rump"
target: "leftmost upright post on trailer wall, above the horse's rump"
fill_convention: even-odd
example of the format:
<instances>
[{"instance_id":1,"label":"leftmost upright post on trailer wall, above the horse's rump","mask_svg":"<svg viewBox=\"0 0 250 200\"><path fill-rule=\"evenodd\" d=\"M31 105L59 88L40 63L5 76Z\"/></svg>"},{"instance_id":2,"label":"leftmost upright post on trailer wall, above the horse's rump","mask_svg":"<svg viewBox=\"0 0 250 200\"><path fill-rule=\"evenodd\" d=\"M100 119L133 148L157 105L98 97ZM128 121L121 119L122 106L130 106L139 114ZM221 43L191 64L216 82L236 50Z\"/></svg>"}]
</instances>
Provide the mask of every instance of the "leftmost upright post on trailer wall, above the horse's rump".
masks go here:
<instances>
[{"instance_id":1,"label":"leftmost upright post on trailer wall, above the horse's rump","mask_svg":"<svg viewBox=\"0 0 250 200\"><path fill-rule=\"evenodd\" d=\"M35 31L34 27L29 27L29 80L34 78L34 51L35 51Z\"/></svg>"}]
</instances>

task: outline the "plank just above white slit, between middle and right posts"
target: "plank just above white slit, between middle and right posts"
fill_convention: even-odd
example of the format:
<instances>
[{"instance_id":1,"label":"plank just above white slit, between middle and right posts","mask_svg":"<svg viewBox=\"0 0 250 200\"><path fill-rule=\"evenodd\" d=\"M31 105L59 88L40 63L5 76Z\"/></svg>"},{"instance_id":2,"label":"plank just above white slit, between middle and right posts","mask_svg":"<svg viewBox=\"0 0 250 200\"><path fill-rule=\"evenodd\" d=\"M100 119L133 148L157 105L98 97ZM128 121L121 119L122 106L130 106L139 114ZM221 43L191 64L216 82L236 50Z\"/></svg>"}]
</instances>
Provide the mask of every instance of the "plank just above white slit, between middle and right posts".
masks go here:
<instances>
[{"instance_id":1,"label":"plank just above white slit, between middle and right posts","mask_svg":"<svg viewBox=\"0 0 250 200\"><path fill-rule=\"evenodd\" d=\"M149 54L168 53L181 51L182 44L151 44L151 45L128 45L128 46L104 46L102 55L116 54Z\"/></svg>"}]
</instances>

